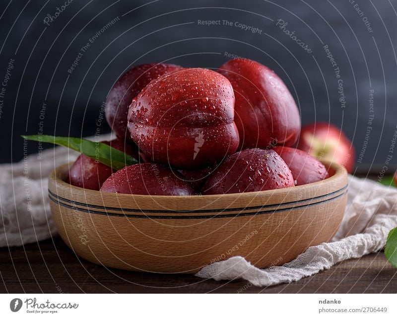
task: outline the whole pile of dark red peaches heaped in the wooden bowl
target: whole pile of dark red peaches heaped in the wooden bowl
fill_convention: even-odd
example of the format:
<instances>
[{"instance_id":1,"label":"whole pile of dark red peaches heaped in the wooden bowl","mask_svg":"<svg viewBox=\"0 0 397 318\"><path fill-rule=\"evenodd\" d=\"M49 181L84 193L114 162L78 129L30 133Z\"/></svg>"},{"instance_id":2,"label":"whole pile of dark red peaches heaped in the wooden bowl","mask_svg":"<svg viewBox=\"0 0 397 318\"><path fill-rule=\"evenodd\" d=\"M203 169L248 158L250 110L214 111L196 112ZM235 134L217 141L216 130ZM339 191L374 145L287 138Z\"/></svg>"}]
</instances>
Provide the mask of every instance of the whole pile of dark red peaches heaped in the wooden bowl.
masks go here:
<instances>
[{"instance_id":1,"label":"whole pile of dark red peaches heaped in the wooden bowl","mask_svg":"<svg viewBox=\"0 0 397 318\"><path fill-rule=\"evenodd\" d=\"M303 185L326 167L291 148L300 115L269 68L234 59L217 71L173 64L131 68L113 86L106 118L117 139L105 142L138 160L114 171L80 155L70 184L151 195L222 194Z\"/></svg>"}]
</instances>

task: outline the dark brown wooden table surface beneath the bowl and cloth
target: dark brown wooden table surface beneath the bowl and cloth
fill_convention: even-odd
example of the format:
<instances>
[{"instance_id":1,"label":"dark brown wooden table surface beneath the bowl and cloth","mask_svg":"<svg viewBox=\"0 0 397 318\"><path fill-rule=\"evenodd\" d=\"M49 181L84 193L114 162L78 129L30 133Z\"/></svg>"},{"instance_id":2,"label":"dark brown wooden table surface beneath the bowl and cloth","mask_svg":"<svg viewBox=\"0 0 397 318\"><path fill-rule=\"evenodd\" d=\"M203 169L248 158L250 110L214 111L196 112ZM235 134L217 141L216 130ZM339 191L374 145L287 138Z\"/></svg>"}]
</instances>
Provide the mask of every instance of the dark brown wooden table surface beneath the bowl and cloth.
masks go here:
<instances>
[{"instance_id":1,"label":"dark brown wooden table surface beneath the bowl and cloth","mask_svg":"<svg viewBox=\"0 0 397 318\"><path fill-rule=\"evenodd\" d=\"M397 269L383 252L350 259L298 282L259 288L105 268L75 256L57 237L0 249L0 293L397 293Z\"/></svg>"}]
</instances>

